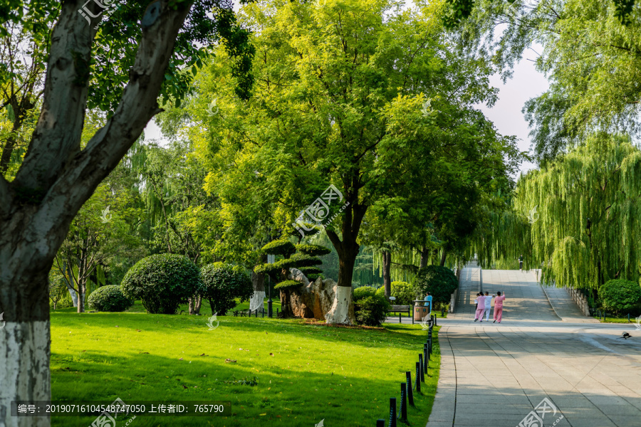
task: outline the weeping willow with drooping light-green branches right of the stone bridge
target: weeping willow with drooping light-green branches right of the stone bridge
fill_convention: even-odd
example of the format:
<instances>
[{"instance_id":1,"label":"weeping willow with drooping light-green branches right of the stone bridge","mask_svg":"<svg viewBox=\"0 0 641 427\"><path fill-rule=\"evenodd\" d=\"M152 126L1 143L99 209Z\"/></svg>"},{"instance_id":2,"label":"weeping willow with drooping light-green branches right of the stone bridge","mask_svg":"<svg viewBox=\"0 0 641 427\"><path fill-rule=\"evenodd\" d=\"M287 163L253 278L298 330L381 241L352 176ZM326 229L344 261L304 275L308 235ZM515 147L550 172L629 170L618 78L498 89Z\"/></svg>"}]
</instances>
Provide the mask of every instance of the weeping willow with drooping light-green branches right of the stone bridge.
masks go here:
<instances>
[{"instance_id":1,"label":"weeping willow with drooping light-green branches right of the stone bridge","mask_svg":"<svg viewBox=\"0 0 641 427\"><path fill-rule=\"evenodd\" d=\"M590 137L522 176L514 210L521 218L514 229L530 230L502 238L514 244L529 234L531 262L542 264L546 283L598 290L610 279L638 281L641 151L628 137Z\"/></svg>"}]
</instances>

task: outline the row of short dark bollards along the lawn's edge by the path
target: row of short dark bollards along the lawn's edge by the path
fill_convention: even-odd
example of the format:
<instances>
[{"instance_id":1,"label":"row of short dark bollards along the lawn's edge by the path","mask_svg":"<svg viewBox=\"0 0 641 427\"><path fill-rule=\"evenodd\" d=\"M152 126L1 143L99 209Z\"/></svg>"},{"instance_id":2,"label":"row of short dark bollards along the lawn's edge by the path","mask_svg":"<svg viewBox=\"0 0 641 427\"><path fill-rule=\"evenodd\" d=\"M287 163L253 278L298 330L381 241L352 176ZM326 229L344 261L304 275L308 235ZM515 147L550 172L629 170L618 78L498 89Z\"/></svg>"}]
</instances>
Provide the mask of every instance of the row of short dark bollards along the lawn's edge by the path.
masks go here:
<instances>
[{"instance_id":1,"label":"row of short dark bollards along the lawn's edge by the path","mask_svg":"<svg viewBox=\"0 0 641 427\"><path fill-rule=\"evenodd\" d=\"M429 359L432 357L432 329L436 325L436 315L432 315L427 329L427 342L423 344L423 352L419 353L416 362L415 384L412 386L412 372L405 372L405 382L401 383L400 411L397 414L397 403L395 397L390 397L390 418L387 427L396 427L397 421L407 424L407 404L414 405L414 390L421 392L421 383L425 382L425 375L429 367ZM384 419L376 420L376 427L385 427Z\"/></svg>"}]
</instances>

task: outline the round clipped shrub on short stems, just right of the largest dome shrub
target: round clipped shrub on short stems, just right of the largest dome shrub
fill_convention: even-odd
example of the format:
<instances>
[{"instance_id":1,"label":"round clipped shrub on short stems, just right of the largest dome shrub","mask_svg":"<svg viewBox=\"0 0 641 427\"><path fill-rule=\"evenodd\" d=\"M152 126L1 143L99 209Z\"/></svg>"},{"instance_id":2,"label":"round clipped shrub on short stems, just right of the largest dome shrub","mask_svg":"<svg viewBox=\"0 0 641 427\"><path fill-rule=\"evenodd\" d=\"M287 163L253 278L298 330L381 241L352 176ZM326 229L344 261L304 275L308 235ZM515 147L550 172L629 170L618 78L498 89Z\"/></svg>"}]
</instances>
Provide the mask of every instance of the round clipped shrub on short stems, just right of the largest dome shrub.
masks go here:
<instances>
[{"instance_id":1,"label":"round clipped shrub on short stems, just right of the largest dome shrub","mask_svg":"<svg viewBox=\"0 0 641 427\"><path fill-rule=\"evenodd\" d=\"M205 265L200 272L202 296L209 300L212 315L220 316L236 307L236 298L241 302L249 301L254 294L251 279L238 265L214 263Z\"/></svg>"}]
</instances>

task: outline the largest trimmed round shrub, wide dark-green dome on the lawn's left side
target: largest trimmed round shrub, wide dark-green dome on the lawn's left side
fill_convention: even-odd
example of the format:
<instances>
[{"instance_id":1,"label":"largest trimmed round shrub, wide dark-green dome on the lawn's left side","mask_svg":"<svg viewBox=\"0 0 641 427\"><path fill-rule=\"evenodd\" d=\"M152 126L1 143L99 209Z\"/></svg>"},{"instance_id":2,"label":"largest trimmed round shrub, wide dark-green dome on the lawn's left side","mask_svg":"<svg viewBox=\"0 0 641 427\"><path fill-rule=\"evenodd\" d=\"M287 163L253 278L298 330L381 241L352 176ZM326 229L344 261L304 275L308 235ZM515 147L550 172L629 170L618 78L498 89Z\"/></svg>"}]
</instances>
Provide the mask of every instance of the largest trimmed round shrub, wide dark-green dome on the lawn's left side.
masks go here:
<instances>
[{"instance_id":1,"label":"largest trimmed round shrub, wide dark-green dome on the lawn's left side","mask_svg":"<svg viewBox=\"0 0 641 427\"><path fill-rule=\"evenodd\" d=\"M120 287L125 297L142 300L147 312L173 315L200 292L199 271L185 256L160 253L135 263Z\"/></svg>"}]
</instances>

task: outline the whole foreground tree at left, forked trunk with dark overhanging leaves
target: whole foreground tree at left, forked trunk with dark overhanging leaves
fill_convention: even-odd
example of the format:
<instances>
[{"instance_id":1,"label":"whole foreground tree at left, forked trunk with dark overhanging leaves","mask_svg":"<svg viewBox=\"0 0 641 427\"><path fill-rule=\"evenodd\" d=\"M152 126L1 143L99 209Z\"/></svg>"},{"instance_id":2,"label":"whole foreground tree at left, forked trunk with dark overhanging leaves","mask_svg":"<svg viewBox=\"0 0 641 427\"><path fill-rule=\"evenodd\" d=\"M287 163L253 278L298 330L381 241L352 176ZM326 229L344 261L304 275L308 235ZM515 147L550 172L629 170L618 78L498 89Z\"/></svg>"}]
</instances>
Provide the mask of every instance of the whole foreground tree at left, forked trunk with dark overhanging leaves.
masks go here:
<instances>
[{"instance_id":1,"label":"whole foreground tree at left, forked trunk with dark overhanging leaves","mask_svg":"<svg viewBox=\"0 0 641 427\"><path fill-rule=\"evenodd\" d=\"M36 5L60 8L44 61L43 113L15 178L0 176L0 312L15 354L14 364L0 367L9 390L0 397L0 423L20 427L50 423L46 416L11 419L8 408L14 400L51 398L47 276L75 214L162 111L159 95L163 103L182 100L209 46L222 42L236 58L230 65L242 82L239 97L251 86L248 32L228 1L130 1L102 22L96 1L11 0L0 4L0 31L46 24ZM95 107L108 119L83 147L85 112Z\"/></svg>"}]
</instances>

